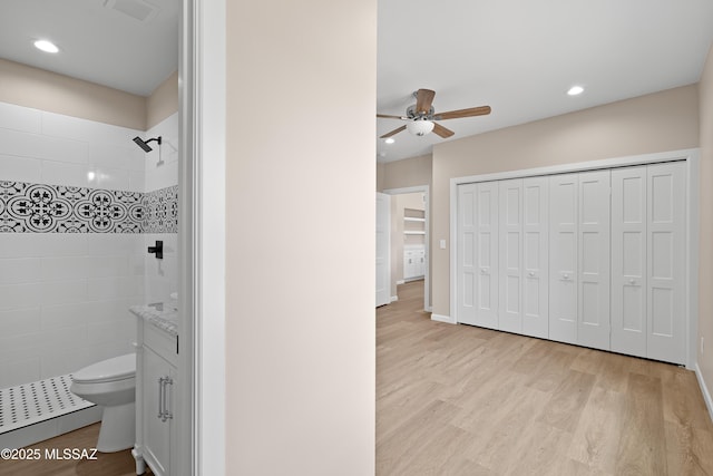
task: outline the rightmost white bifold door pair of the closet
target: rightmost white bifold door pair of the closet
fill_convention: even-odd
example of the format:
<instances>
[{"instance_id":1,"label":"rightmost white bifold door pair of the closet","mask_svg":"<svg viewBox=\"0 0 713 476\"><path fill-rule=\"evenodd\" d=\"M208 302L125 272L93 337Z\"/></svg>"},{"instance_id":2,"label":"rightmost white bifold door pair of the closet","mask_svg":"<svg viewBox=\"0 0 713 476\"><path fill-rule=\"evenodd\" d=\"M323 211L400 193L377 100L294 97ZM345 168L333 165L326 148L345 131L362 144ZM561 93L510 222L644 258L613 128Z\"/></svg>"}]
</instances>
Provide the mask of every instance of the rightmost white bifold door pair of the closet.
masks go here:
<instances>
[{"instance_id":1,"label":"rightmost white bifold door pair of the closet","mask_svg":"<svg viewBox=\"0 0 713 476\"><path fill-rule=\"evenodd\" d=\"M685 164L612 172L612 350L685 363Z\"/></svg>"}]
</instances>

